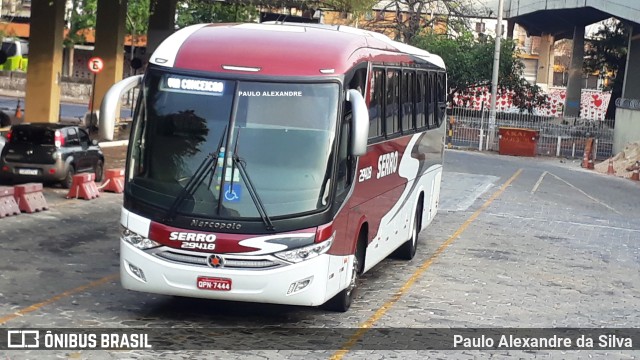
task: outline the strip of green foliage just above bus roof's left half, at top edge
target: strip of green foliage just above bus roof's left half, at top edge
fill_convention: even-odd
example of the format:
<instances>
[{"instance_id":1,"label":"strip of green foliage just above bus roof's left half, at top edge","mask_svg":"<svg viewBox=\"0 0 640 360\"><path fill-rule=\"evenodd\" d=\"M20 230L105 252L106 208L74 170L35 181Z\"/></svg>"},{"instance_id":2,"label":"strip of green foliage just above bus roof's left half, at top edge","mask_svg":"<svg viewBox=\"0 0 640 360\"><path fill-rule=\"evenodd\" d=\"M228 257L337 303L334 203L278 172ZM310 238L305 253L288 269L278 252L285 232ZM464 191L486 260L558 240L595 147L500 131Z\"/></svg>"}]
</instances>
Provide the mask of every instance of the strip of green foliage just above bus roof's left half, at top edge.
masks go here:
<instances>
[{"instance_id":1,"label":"strip of green foliage just above bus roof's left half, at top edge","mask_svg":"<svg viewBox=\"0 0 640 360\"><path fill-rule=\"evenodd\" d=\"M177 6L179 28L200 23L247 22L258 15L253 5L209 0L181 0Z\"/></svg>"}]
</instances>

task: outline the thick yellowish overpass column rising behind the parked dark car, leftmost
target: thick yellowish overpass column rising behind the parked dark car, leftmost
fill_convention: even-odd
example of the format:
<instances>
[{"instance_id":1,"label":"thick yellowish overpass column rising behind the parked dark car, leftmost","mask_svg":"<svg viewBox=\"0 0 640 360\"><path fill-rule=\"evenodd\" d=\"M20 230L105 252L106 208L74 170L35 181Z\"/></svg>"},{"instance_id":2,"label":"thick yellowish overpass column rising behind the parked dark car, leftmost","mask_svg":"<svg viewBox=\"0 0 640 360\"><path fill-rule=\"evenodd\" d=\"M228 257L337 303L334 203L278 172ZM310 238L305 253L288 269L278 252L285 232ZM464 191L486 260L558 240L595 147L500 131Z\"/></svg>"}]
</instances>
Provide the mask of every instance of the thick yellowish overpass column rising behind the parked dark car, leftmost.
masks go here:
<instances>
[{"instance_id":1,"label":"thick yellowish overpass column rising behind the parked dark car, leftmost","mask_svg":"<svg viewBox=\"0 0 640 360\"><path fill-rule=\"evenodd\" d=\"M64 1L33 0L24 119L58 122Z\"/></svg>"}]
</instances>

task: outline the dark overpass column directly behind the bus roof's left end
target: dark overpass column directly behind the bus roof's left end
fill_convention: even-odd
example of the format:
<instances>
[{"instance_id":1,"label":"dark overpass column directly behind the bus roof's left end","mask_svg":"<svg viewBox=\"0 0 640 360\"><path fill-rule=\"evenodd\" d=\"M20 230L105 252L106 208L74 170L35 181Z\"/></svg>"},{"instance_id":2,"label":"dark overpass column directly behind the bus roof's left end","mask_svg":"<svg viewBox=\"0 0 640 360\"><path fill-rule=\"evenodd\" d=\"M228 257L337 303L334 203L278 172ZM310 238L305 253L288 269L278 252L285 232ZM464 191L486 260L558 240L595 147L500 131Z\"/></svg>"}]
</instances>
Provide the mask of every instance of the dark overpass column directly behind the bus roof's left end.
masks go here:
<instances>
[{"instance_id":1,"label":"dark overpass column directly behind the bus roof's left end","mask_svg":"<svg viewBox=\"0 0 640 360\"><path fill-rule=\"evenodd\" d=\"M175 31L176 4L178 0L151 0L151 15L147 31L147 59L158 45Z\"/></svg>"}]
</instances>

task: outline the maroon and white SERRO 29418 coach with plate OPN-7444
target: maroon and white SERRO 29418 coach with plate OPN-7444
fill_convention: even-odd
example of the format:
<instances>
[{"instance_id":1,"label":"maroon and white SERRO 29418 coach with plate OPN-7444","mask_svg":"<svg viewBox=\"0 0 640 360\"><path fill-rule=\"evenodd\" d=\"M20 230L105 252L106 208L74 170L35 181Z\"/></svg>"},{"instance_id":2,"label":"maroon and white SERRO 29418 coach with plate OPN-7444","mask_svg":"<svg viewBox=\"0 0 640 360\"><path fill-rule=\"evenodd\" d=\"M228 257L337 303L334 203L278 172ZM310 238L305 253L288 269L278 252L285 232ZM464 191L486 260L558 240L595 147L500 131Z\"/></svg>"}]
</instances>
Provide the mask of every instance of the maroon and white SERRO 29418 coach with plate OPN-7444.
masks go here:
<instances>
[{"instance_id":1,"label":"maroon and white SERRO 29418 coach with plate OPN-7444","mask_svg":"<svg viewBox=\"0 0 640 360\"><path fill-rule=\"evenodd\" d=\"M347 311L411 259L438 209L442 59L318 24L186 27L106 93L138 88L121 214L124 288Z\"/></svg>"}]
</instances>

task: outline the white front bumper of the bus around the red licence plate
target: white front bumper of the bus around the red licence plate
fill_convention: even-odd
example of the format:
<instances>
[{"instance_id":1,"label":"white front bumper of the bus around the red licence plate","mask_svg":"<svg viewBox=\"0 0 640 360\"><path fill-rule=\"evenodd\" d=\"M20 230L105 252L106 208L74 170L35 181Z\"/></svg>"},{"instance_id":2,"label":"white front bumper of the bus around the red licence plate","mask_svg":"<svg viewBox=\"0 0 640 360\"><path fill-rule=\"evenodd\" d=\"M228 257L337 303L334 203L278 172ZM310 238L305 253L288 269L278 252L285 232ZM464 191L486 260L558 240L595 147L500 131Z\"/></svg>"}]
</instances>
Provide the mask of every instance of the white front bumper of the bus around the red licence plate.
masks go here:
<instances>
[{"instance_id":1,"label":"white front bumper of the bus around the red licence plate","mask_svg":"<svg viewBox=\"0 0 640 360\"><path fill-rule=\"evenodd\" d=\"M328 254L274 269L224 269L158 258L120 240L120 278L125 289L185 297L317 306L346 284L348 258ZM202 278L230 282L229 289L202 289Z\"/></svg>"}]
</instances>

